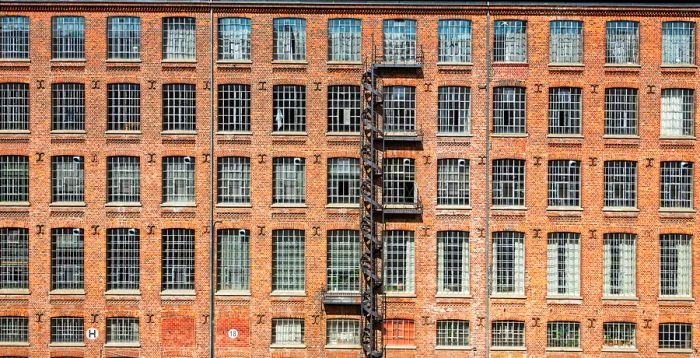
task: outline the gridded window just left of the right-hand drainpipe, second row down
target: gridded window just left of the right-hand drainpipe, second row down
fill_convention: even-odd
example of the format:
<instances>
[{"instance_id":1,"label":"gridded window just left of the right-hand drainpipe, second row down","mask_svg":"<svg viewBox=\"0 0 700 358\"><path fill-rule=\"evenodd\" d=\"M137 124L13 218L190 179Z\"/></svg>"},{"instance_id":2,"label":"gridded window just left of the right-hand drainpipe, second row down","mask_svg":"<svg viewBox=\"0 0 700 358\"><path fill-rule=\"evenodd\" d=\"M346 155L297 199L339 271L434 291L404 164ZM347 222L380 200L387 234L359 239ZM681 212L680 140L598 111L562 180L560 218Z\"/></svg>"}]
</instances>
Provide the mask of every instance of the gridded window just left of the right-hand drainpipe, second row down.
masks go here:
<instances>
[{"instance_id":1,"label":"gridded window just left of the right-hand drainpipe, second row down","mask_svg":"<svg viewBox=\"0 0 700 358\"><path fill-rule=\"evenodd\" d=\"M471 131L469 87L438 88L438 134L468 134Z\"/></svg>"}]
</instances>

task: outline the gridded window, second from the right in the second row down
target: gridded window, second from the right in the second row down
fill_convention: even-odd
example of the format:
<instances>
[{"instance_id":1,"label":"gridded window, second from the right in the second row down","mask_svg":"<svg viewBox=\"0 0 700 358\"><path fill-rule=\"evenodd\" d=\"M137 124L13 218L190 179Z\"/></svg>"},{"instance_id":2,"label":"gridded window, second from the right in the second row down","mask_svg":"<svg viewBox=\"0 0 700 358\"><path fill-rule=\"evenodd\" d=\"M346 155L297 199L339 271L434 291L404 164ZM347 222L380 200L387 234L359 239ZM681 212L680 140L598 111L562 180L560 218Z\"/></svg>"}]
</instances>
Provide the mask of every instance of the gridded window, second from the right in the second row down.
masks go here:
<instances>
[{"instance_id":1,"label":"gridded window, second from the right in the second row down","mask_svg":"<svg viewBox=\"0 0 700 358\"><path fill-rule=\"evenodd\" d=\"M605 135L637 135L637 89L605 90Z\"/></svg>"}]
</instances>

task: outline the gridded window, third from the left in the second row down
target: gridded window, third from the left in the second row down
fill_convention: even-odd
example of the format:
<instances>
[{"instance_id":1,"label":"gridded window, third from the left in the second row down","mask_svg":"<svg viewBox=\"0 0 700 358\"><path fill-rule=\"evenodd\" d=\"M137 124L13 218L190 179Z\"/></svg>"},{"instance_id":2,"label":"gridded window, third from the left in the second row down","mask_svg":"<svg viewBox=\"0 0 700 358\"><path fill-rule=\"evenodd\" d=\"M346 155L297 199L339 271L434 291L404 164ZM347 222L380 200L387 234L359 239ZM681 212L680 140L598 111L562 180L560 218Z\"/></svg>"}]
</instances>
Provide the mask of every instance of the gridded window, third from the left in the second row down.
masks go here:
<instances>
[{"instance_id":1,"label":"gridded window, third from the left in the second row down","mask_svg":"<svg viewBox=\"0 0 700 358\"><path fill-rule=\"evenodd\" d=\"M141 130L141 85L138 83L107 85L107 130Z\"/></svg>"}]
</instances>

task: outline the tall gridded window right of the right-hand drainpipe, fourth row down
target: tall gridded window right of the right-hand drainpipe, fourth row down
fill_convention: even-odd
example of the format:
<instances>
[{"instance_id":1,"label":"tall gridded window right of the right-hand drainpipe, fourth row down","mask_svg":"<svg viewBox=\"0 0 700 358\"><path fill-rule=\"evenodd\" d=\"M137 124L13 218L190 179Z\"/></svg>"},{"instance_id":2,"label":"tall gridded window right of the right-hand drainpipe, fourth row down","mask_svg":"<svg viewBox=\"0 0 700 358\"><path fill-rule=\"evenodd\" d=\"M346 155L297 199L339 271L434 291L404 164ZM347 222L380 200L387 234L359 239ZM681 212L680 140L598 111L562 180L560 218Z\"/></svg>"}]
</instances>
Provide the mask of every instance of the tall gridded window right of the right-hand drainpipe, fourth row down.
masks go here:
<instances>
[{"instance_id":1,"label":"tall gridded window right of the right-hand drainpipe, fourth row down","mask_svg":"<svg viewBox=\"0 0 700 358\"><path fill-rule=\"evenodd\" d=\"M493 233L493 294L525 294L525 234Z\"/></svg>"}]
</instances>

